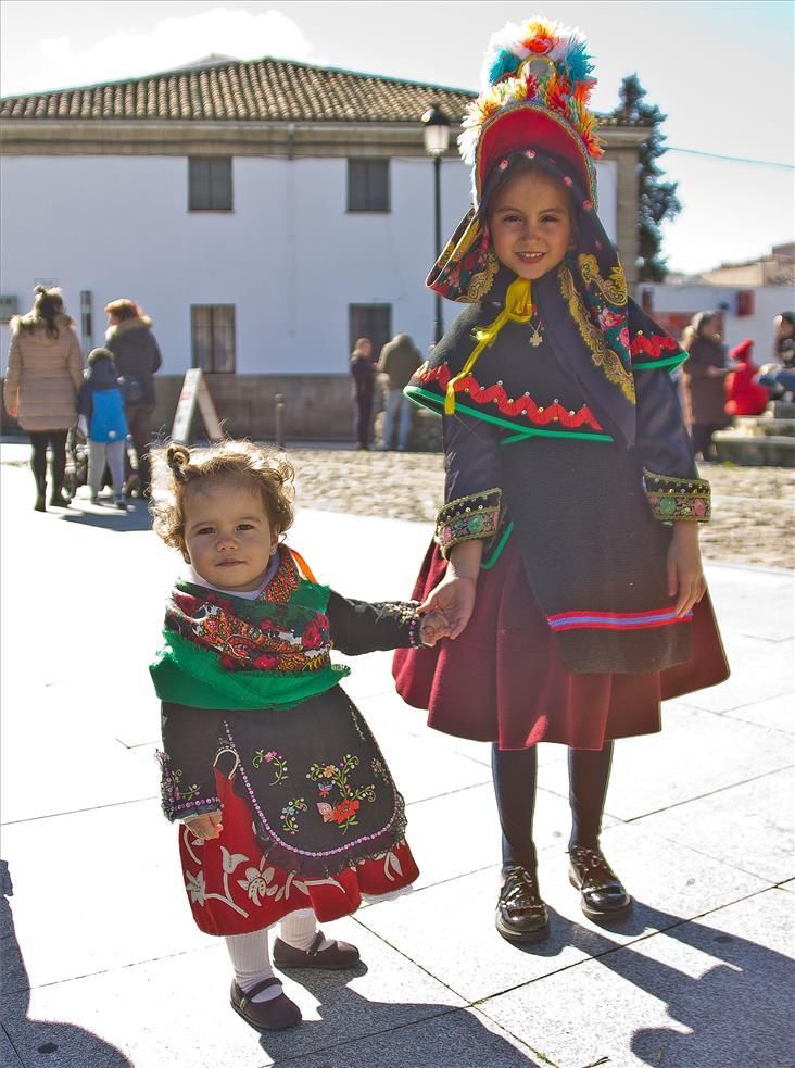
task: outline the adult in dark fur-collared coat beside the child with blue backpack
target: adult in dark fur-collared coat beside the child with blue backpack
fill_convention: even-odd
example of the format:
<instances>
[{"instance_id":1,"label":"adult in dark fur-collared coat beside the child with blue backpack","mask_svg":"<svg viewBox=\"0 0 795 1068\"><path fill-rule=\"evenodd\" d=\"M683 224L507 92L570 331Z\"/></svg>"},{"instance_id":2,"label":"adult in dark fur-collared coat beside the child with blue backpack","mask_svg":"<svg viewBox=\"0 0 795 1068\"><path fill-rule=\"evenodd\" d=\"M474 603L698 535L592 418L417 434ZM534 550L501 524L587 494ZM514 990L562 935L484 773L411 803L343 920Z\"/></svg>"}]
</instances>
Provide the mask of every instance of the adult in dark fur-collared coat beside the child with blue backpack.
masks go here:
<instances>
[{"instance_id":1,"label":"adult in dark fur-collared coat beside the child with blue backpack","mask_svg":"<svg viewBox=\"0 0 795 1068\"><path fill-rule=\"evenodd\" d=\"M125 407L132 448L138 461L138 495L149 497L152 473L149 451L154 415L154 374L163 366L160 348L152 334L152 321L134 301L126 298L105 304L108 330L105 344L113 355L118 374L140 386L140 400ZM125 454L126 455L126 454ZM132 465L126 457L126 492L132 495Z\"/></svg>"}]
</instances>

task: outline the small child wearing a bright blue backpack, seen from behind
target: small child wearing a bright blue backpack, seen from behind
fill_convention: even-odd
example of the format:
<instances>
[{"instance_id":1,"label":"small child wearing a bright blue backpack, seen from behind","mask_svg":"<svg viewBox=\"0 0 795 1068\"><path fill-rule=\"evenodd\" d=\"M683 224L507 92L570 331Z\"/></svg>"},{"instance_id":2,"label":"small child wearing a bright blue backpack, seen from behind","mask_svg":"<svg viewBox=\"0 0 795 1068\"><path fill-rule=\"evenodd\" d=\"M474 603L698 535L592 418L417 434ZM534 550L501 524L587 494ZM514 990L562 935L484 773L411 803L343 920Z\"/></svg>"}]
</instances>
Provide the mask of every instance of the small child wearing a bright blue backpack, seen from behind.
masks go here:
<instances>
[{"instance_id":1,"label":"small child wearing a bright blue backpack, seen from behind","mask_svg":"<svg viewBox=\"0 0 795 1068\"><path fill-rule=\"evenodd\" d=\"M88 439L88 485L91 504L99 503L105 463L111 472L113 499L125 507L124 460L127 454L127 419L124 414L128 386L118 377L113 353L92 349L88 354L86 380L77 394L77 412Z\"/></svg>"}]
</instances>

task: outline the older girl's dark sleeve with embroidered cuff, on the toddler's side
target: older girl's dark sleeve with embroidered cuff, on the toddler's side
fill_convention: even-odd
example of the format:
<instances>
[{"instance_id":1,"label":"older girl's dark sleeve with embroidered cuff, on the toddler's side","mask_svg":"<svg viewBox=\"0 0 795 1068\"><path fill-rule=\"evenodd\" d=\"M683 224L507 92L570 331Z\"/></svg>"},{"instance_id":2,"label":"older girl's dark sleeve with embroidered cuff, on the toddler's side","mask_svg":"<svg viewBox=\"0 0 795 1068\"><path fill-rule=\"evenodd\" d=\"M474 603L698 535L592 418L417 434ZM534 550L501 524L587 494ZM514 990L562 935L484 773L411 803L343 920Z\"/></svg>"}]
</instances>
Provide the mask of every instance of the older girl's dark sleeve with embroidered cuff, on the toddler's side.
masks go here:
<instances>
[{"instance_id":1,"label":"older girl's dark sleeve with embroidered cuff, on the toddler's side","mask_svg":"<svg viewBox=\"0 0 795 1068\"><path fill-rule=\"evenodd\" d=\"M471 415L443 416L444 506L437 516L442 555L463 541L491 539L502 507L500 430Z\"/></svg>"}]
</instances>

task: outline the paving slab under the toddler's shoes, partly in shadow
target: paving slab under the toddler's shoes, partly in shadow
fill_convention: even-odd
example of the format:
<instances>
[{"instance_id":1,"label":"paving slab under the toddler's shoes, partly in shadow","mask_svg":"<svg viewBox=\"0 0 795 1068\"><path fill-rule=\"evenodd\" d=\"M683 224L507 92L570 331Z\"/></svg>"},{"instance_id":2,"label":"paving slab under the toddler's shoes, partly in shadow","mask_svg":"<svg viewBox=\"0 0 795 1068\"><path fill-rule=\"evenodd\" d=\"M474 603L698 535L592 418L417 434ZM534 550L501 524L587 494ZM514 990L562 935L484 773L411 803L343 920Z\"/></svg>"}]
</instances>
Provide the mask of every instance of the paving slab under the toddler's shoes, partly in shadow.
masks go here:
<instances>
[{"instance_id":1,"label":"paving slab under the toddler's shoes, partly in shadow","mask_svg":"<svg viewBox=\"0 0 795 1068\"><path fill-rule=\"evenodd\" d=\"M48 1026L33 1021L68 1019L79 1027L59 1042L59 1068L104 1068L105 1061L86 1057L85 1035L109 1043L113 1036L136 1068L255 1068L286 1059L303 1063L311 1054L463 1007L462 998L355 920L335 923L333 932L354 941L364 963L352 971L283 977L286 993L303 1014L301 1026L287 1032L261 1038L232 1012L226 950L220 940L209 938L202 940L204 948L187 954L12 996L3 1023L26 1064L34 1063ZM471 1028L476 1030L483 1028Z\"/></svg>"}]
</instances>

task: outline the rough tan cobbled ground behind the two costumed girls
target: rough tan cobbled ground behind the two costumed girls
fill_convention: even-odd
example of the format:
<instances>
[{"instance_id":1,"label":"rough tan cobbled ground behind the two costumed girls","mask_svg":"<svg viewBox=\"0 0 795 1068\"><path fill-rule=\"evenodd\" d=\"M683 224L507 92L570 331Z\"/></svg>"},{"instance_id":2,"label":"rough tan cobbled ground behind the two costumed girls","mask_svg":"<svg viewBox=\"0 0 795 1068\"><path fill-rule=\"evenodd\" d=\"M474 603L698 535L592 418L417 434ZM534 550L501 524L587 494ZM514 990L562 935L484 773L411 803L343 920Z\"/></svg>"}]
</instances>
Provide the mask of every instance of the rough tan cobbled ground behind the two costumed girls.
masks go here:
<instances>
[{"instance_id":1,"label":"rough tan cobbled ground behind the two costumed girls","mask_svg":"<svg viewBox=\"0 0 795 1068\"><path fill-rule=\"evenodd\" d=\"M433 519L442 503L442 457L429 453L295 449L305 507L394 519ZM795 566L795 469L704 464L714 519L702 527L708 560Z\"/></svg>"}]
</instances>

